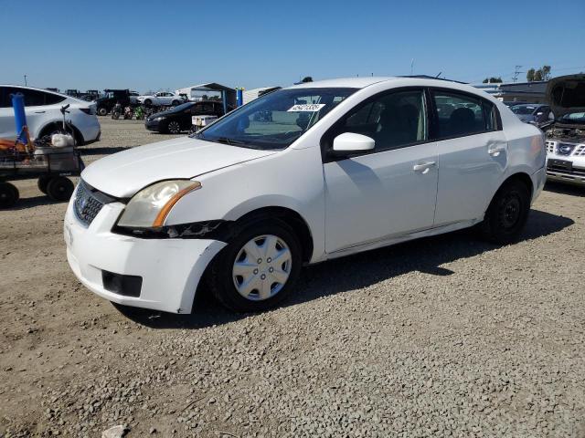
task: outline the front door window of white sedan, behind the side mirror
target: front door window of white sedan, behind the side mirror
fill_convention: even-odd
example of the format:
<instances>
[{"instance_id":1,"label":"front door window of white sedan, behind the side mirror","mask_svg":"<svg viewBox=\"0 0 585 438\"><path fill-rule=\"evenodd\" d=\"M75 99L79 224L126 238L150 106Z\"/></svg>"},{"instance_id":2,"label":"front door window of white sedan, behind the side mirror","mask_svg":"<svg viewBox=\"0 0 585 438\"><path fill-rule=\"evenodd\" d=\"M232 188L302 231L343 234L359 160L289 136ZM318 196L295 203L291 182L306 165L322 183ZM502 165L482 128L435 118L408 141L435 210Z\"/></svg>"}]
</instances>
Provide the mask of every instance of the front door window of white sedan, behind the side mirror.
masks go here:
<instances>
[{"instance_id":1,"label":"front door window of white sedan, behind the side mirror","mask_svg":"<svg viewBox=\"0 0 585 438\"><path fill-rule=\"evenodd\" d=\"M421 89L390 92L360 105L337 124L331 137L333 139L344 132L374 139L375 151L399 149L426 141L424 92Z\"/></svg>"}]
</instances>

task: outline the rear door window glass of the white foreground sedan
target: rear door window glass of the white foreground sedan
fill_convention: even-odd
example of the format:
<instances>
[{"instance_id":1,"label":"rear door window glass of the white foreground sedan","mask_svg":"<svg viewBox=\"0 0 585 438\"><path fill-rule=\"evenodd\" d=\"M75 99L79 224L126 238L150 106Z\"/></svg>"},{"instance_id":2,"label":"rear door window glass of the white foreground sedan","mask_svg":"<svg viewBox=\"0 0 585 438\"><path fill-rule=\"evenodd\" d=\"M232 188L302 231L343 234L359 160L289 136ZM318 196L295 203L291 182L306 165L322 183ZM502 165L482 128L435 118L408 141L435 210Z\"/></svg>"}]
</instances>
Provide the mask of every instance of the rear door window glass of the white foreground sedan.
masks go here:
<instances>
[{"instance_id":1,"label":"rear door window glass of the white foreground sedan","mask_svg":"<svg viewBox=\"0 0 585 438\"><path fill-rule=\"evenodd\" d=\"M495 106L460 93L431 91L437 114L437 137L445 139L496 129Z\"/></svg>"}]
</instances>

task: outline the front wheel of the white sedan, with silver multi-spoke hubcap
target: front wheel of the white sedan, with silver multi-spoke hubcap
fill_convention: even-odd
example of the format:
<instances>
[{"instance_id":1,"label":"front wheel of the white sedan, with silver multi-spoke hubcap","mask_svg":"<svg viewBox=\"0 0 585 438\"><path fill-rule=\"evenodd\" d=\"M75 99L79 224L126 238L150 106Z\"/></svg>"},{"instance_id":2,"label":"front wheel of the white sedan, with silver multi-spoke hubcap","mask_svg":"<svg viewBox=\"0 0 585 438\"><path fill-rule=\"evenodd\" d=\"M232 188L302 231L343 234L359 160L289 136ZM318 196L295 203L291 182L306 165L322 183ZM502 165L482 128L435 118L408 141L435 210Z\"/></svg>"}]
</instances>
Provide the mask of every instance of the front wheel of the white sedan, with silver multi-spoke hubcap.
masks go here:
<instances>
[{"instance_id":1,"label":"front wheel of the white sedan, with silver multi-spoke hubcap","mask_svg":"<svg viewBox=\"0 0 585 438\"><path fill-rule=\"evenodd\" d=\"M210 286L231 310L261 311L291 293L302 263L299 240L286 224L250 224L210 266Z\"/></svg>"}]
</instances>

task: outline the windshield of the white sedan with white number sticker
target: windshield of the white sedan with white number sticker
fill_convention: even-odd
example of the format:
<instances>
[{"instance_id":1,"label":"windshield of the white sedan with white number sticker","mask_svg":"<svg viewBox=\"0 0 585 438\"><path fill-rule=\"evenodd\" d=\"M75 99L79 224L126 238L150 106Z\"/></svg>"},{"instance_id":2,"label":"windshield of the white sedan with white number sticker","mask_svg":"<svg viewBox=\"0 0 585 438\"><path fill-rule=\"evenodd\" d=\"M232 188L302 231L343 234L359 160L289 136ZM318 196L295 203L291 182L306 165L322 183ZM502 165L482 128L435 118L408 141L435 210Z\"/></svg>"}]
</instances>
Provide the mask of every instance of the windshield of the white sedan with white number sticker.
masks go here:
<instances>
[{"instance_id":1,"label":"windshield of the white sedan with white number sticker","mask_svg":"<svg viewBox=\"0 0 585 438\"><path fill-rule=\"evenodd\" d=\"M193 137L253 149L283 149L355 91L280 89L233 111Z\"/></svg>"}]
</instances>

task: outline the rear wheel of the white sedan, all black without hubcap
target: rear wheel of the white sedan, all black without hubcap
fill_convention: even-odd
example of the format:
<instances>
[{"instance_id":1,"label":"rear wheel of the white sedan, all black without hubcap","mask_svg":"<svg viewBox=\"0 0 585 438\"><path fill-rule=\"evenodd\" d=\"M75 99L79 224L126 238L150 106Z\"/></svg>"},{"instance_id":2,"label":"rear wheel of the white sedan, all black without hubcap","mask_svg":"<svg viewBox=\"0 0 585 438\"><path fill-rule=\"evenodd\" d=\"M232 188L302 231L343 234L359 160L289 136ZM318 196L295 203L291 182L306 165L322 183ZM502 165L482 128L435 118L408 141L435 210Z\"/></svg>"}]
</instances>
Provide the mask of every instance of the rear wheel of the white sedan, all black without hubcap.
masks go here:
<instances>
[{"instance_id":1,"label":"rear wheel of the white sedan, all black without hubcap","mask_svg":"<svg viewBox=\"0 0 585 438\"><path fill-rule=\"evenodd\" d=\"M525 183L513 180L495 193L480 224L484 239L497 244L516 242L527 224L530 212L530 191Z\"/></svg>"}]
</instances>

